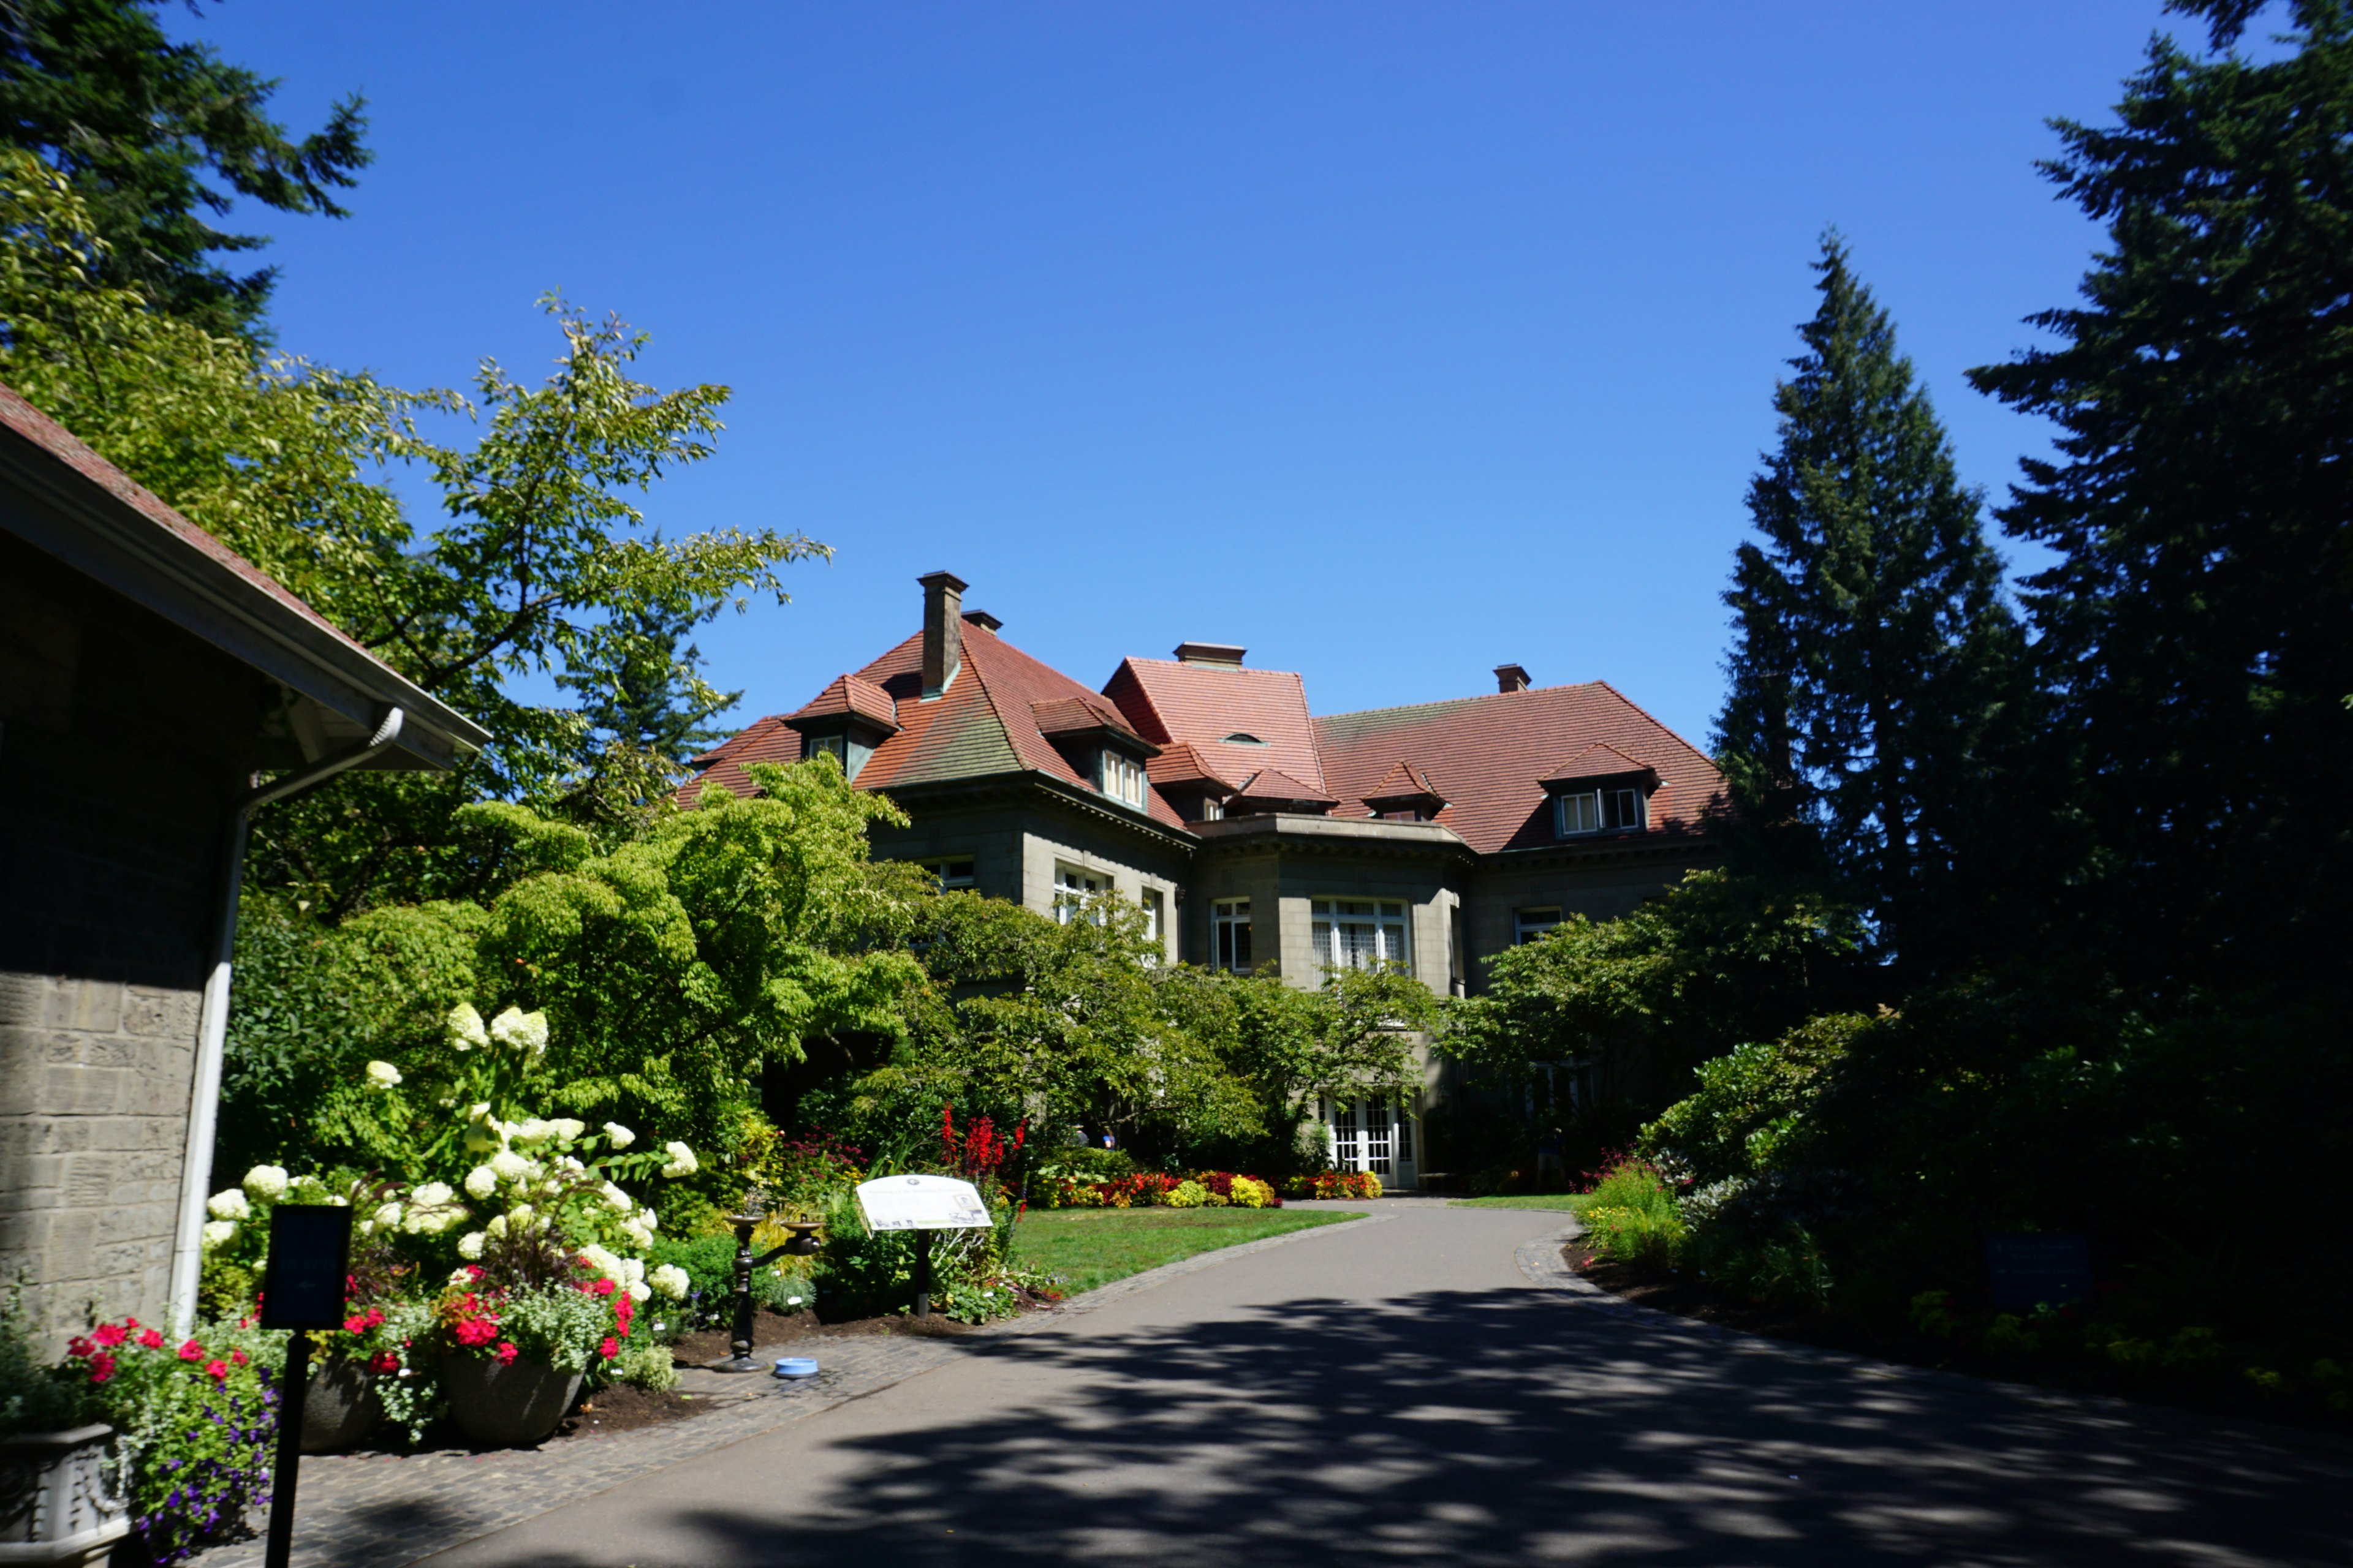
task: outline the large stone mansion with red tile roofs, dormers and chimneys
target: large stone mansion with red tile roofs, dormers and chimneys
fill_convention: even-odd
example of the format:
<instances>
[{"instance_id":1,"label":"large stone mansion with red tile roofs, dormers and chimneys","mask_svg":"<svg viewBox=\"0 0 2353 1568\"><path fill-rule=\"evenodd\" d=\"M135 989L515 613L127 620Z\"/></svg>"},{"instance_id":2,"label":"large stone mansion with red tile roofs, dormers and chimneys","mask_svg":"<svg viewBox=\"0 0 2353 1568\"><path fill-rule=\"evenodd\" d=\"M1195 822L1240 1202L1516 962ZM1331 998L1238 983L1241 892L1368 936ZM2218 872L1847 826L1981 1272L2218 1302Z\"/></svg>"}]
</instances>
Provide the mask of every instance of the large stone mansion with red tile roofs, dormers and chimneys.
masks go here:
<instances>
[{"instance_id":1,"label":"large stone mansion with red tile roofs, dormers and chimneys","mask_svg":"<svg viewBox=\"0 0 2353 1568\"><path fill-rule=\"evenodd\" d=\"M833 752L911 818L875 856L944 886L1064 919L1118 893L1172 964L1294 985L1398 964L1454 997L1504 947L1715 860L1715 766L1605 682L1499 665L1489 693L1318 717L1297 672L1186 642L1089 691L962 609L953 574L920 583L918 632L696 757L680 799ZM1419 1112L1452 1088L1433 1067L1414 1105L1327 1105L1334 1164L1414 1187Z\"/></svg>"}]
</instances>

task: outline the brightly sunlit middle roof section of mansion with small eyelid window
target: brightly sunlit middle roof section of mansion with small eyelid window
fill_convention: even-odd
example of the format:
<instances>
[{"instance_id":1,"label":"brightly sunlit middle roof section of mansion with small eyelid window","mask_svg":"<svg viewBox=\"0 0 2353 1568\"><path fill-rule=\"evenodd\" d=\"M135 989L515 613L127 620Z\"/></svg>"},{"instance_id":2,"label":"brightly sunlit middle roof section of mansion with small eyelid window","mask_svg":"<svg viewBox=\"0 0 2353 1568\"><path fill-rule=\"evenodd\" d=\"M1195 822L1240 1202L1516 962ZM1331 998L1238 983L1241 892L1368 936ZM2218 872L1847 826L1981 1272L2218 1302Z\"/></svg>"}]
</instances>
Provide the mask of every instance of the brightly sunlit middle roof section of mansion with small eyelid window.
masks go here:
<instances>
[{"instance_id":1,"label":"brightly sunlit middle roof section of mansion with small eyelid window","mask_svg":"<svg viewBox=\"0 0 2353 1568\"><path fill-rule=\"evenodd\" d=\"M1139 736L1160 745L1186 741L1224 778L1278 769L1306 783L1313 797L1327 788L1308 693L1292 670L1122 658L1104 696ZM1235 733L1264 745L1226 738Z\"/></svg>"}]
</instances>

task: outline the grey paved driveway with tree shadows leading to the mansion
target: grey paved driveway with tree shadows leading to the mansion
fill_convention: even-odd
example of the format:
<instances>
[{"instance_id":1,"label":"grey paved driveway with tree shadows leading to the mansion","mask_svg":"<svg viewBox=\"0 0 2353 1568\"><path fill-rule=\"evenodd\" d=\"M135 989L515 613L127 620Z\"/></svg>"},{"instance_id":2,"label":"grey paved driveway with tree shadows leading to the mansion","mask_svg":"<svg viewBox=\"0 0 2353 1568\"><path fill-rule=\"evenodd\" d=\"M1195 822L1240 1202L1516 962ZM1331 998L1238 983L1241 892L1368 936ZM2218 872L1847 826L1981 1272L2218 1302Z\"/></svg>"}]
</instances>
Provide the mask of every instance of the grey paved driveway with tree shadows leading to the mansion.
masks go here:
<instances>
[{"instance_id":1,"label":"grey paved driveway with tree shadows leading to the mansion","mask_svg":"<svg viewBox=\"0 0 2353 1568\"><path fill-rule=\"evenodd\" d=\"M1706 1338L1374 1206L431 1559L2353 1563L2353 1446Z\"/></svg>"}]
</instances>

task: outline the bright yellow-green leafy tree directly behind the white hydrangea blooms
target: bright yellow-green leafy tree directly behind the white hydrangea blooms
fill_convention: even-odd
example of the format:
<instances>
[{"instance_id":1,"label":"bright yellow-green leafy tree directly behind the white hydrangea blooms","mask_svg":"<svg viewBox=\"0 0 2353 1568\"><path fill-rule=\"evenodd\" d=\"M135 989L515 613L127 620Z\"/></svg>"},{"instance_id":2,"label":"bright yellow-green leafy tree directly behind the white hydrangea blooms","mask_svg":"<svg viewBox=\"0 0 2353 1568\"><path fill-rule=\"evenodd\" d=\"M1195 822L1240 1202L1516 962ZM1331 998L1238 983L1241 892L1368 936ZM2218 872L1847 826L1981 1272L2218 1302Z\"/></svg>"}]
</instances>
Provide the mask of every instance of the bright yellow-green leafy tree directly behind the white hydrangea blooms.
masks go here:
<instances>
[{"instance_id":1,"label":"bright yellow-green leafy tree directly behind the white hydrangea blooms","mask_svg":"<svg viewBox=\"0 0 2353 1568\"><path fill-rule=\"evenodd\" d=\"M240 957L289 983L235 992L221 1119L268 1145L242 1157L365 1161L384 1143L360 1074L372 1058L400 1070L421 1117L454 1114L433 1107L459 1001L548 1013L565 1112L722 1152L758 1110L765 1063L828 1032L904 1037L927 990L906 952L915 891L866 858L866 827L904 818L831 759L762 764L753 780L748 799L711 790L616 846L473 804L471 830L506 849L492 896L388 905L332 931L256 922Z\"/></svg>"}]
</instances>

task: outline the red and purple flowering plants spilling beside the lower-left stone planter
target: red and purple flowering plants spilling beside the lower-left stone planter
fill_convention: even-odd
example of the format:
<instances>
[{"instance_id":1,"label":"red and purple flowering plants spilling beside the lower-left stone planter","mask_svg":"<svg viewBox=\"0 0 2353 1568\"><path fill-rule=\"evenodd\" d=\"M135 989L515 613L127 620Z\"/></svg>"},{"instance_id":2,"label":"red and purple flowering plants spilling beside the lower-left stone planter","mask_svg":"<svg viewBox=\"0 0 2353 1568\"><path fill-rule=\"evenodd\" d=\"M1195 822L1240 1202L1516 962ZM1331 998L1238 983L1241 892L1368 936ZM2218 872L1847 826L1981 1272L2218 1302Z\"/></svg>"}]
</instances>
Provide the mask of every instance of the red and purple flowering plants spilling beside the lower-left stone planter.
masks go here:
<instances>
[{"instance_id":1,"label":"red and purple flowering plants spilling beside the lower-left stone planter","mask_svg":"<svg viewBox=\"0 0 2353 1568\"><path fill-rule=\"evenodd\" d=\"M282 1363L285 1335L221 1324L172 1342L127 1316L66 1345L118 1432L132 1528L155 1563L224 1540L268 1502Z\"/></svg>"}]
</instances>

